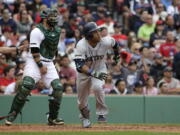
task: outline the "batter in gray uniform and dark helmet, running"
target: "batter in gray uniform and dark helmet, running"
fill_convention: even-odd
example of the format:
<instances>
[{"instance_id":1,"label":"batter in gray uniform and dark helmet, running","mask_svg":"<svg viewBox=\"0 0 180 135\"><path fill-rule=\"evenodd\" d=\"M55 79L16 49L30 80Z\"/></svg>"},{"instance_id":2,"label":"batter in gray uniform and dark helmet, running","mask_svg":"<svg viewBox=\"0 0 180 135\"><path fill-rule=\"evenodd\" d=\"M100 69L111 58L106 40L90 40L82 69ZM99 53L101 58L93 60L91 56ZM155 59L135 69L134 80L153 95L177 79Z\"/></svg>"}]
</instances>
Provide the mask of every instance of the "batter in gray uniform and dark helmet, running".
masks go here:
<instances>
[{"instance_id":1,"label":"batter in gray uniform and dark helmet, running","mask_svg":"<svg viewBox=\"0 0 180 135\"><path fill-rule=\"evenodd\" d=\"M94 90L96 97L96 114L98 122L106 122L108 108L104 101L103 84L107 78L106 53L112 48L118 60L118 44L112 37L101 38L96 23L89 22L84 26L84 38L75 48L75 63L78 71L77 92L82 126L91 126L89 120L88 96Z\"/></svg>"}]
</instances>

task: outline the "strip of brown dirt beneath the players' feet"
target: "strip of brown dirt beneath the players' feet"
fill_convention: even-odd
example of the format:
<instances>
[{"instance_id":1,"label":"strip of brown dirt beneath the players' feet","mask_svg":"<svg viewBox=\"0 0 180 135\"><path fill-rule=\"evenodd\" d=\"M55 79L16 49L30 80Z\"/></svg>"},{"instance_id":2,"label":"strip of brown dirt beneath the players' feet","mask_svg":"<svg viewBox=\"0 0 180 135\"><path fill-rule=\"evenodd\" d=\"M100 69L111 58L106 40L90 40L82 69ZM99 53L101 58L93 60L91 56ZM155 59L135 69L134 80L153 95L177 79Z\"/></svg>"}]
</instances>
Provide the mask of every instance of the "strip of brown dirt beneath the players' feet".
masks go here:
<instances>
[{"instance_id":1,"label":"strip of brown dirt beneath the players' feet","mask_svg":"<svg viewBox=\"0 0 180 135\"><path fill-rule=\"evenodd\" d=\"M174 132L180 133L180 126L174 125L108 125L108 124L94 124L91 128L82 128L81 125L62 125L62 126L48 126L48 125L0 125L0 132L107 132L107 131L149 131L149 132Z\"/></svg>"}]
</instances>

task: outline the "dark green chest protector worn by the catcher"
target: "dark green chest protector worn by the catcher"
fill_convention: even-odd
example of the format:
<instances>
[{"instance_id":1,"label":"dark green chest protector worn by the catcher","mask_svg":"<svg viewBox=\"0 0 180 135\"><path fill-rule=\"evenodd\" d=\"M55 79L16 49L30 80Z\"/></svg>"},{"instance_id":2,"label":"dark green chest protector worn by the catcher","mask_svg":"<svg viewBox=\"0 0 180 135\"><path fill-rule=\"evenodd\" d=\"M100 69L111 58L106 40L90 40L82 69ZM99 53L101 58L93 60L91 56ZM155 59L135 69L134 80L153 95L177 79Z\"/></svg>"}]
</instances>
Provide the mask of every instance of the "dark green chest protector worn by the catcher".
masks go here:
<instances>
[{"instance_id":1,"label":"dark green chest protector worn by the catcher","mask_svg":"<svg viewBox=\"0 0 180 135\"><path fill-rule=\"evenodd\" d=\"M45 37L40 44L40 54L47 59L53 59L60 38L60 28L55 27L55 29L51 31L45 29L42 24L37 25L37 28L41 30Z\"/></svg>"}]
</instances>

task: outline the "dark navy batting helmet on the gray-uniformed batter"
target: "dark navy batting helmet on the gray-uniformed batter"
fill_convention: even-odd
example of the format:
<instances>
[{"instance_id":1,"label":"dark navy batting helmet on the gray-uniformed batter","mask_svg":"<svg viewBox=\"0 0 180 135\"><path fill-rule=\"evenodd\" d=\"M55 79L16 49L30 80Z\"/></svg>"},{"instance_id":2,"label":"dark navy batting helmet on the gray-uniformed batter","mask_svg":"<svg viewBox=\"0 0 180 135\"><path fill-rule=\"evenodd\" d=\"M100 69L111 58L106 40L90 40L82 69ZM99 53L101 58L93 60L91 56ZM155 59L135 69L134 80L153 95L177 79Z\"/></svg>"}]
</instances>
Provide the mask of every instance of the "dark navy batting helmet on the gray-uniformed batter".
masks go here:
<instances>
[{"instance_id":1,"label":"dark navy batting helmet on the gray-uniformed batter","mask_svg":"<svg viewBox=\"0 0 180 135\"><path fill-rule=\"evenodd\" d=\"M89 22L84 26L83 33L87 40L92 38L92 32L99 30L95 22Z\"/></svg>"}]
</instances>

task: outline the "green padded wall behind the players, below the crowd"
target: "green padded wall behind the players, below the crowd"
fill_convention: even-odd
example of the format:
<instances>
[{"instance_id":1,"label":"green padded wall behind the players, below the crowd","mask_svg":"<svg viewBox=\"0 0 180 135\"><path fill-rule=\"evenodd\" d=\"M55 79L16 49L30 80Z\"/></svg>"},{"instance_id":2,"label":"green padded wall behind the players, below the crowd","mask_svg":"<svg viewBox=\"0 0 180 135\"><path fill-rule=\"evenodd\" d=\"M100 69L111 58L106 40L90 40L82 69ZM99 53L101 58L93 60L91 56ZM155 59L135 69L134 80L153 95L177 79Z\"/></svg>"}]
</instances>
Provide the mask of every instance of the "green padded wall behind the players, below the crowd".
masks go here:
<instances>
[{"instance_id":1,"label":"green padded wall behind the players, below the crowd","mask_svg":"<svg viewBox=\"0 0 180 135\"><path fill-rule=\"evenodd\" d=\"M13 96L0 96L0 115L6 115ZM46 123L48 96L30 96L15 123ZM180 123L180 96L106 96L109 123ZM95 98L89 98L91 121L96 122ZM64 96L60 116L79 123L77 96ZM0 121L3 123L3 121Z\"/></svg>"}]
</instances>

